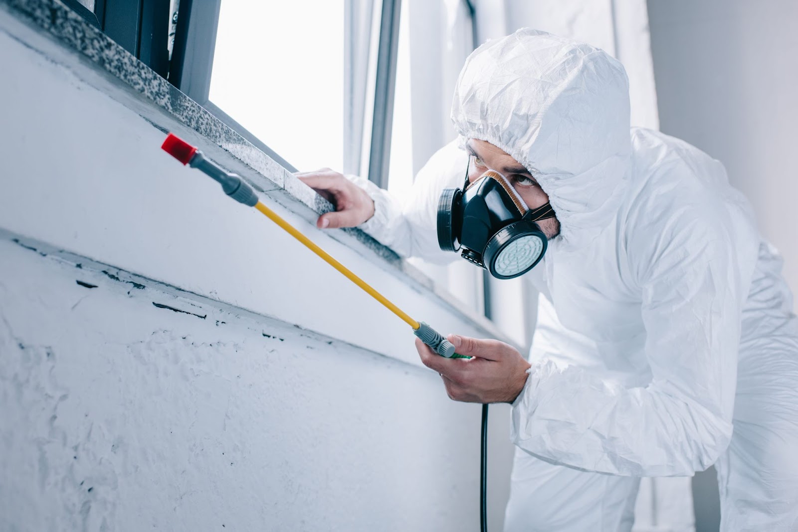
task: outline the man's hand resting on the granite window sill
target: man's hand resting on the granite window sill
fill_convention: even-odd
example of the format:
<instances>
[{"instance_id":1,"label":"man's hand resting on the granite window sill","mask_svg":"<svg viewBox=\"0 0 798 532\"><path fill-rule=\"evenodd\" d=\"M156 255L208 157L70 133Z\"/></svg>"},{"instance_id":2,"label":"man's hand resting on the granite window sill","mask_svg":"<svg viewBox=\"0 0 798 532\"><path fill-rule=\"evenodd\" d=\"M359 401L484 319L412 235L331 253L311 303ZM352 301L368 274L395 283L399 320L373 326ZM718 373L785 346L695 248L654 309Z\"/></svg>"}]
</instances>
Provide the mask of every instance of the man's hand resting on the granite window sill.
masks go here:
<instances>
[{"instance_id":1,"label":"man's hand resting on the granite window sill","mask_svg":"<svg viewBox=\"0 0 798 532\"><path fill-rule=\"evenodd\" d=\"M336 212L324 213L318 217L316 226L319 229L354 227L373 217L374 202L369 198L369 194L350 182L343 174L322 168L294 175L335 206Z\"/></svg>"}]
</instances>

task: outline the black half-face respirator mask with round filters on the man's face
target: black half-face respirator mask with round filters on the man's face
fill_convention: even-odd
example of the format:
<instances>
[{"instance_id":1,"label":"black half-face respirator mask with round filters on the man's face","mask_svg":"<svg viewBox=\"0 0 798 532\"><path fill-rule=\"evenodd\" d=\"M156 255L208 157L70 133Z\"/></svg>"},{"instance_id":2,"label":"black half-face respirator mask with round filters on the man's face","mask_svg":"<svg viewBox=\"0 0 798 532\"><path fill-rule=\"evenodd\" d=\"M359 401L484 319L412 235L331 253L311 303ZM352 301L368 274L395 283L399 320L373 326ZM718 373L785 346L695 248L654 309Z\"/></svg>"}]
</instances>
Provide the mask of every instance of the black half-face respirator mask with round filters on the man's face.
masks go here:
<instances>
[{"instance_id":1,"label":"black half-face respirator mask with round filters on the man's face","mask_svg":"<svg viewBox=\"0 0 798 532\"><path fill-rule=\"evenodd\" d=\"M468 158L470 163L471 158ZM438 245L462 249L465 260L485 268L496 279L512 279L538 264L547 238L537 221L555 217L546 203L529 209L512 183L495 170L462 189L444 189L438 201Z\"/></svg>"}]
</instances>

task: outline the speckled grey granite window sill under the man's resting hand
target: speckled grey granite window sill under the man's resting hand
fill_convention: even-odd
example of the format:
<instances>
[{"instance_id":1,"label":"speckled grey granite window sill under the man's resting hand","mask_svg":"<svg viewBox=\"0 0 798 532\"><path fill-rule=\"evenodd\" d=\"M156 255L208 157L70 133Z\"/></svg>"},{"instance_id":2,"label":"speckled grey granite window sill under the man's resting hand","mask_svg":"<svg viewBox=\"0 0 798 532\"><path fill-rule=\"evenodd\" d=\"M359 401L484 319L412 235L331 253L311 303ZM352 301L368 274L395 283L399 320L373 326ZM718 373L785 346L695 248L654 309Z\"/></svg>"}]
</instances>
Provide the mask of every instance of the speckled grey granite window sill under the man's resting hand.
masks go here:
<instances>
[{"instance_id":1,"label":"speckled grey granite window sill under the man's resting hand","mask_svg":"<svg viewBox=\"0 0 798 532\"><path fill-rule=\"evenodd\" d=\"M69 52L79 54L82 62L88 62L110 83L109 87L117 88L117 92L120 87L124 89L122 94L109 96L136 111L153 127L184 136L211 158L240 174L256 190L307 221L312 222L319 214L333 209L329 201L61 2L0 0L0 16L2 11L49 35ZM174 127L175 121L182 127ZM494 338L508 341L492 322L463 309L462 303L448 291L437 287L428 276L360 229L335 229L329 234L358 249L366 260L400 277L409 287L433 295L453 314Z\"/></svg>"}]
</instances>

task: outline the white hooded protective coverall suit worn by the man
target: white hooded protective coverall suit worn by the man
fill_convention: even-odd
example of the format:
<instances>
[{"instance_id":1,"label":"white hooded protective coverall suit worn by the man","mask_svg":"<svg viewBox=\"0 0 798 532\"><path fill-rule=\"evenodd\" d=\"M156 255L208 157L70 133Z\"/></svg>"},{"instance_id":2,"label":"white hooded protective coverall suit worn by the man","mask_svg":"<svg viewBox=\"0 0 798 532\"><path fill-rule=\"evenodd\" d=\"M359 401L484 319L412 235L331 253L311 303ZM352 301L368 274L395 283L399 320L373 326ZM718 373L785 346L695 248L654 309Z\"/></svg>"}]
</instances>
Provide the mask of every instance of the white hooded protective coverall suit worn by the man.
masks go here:
<instances>
[{"instance_id":1,"label":"white hooded protective coverall suit worn by the man","mask_svg":"<svg viewBox=\"0 0 798 532\"><path fill-rule=\"evenodd\" d=\"M541 296L505 530L629 530L639 477L712 464L722 530L798 530L798 321L721 163L630 130L622 65L530 29L472 53L452 119L523 163L562 225L526 274ZM436 212L467 158L441 149L404 205L355 178L376 207L363 229L462 260Z\"/></svg>"}]
</instances>

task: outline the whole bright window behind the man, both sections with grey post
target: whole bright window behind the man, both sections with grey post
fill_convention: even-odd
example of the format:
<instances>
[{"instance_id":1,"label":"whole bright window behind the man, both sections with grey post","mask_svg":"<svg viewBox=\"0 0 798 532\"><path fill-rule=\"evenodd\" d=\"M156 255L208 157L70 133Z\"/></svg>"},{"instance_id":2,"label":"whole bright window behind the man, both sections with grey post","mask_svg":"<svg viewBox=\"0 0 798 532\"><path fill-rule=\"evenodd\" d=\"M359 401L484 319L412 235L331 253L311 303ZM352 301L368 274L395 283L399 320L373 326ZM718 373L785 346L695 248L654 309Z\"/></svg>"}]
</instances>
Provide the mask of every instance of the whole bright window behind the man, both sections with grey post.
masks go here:
<instances>
[{"instance_id":1,"label":"whole bright window behind the man, both sections with grey post","mask_svg":"<svg viewBox=\"0 0 798 532\"><path fill-rule=\"evenodd\" d=\"M467 0L180 0L169 80L289 170L368 174L401 196L455 138L473 21ZM522 280L413 263L527 342Z\"/></svg>"}]
</instances>

